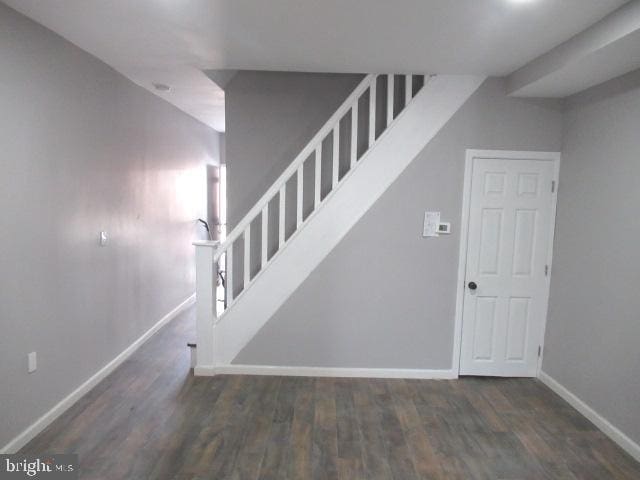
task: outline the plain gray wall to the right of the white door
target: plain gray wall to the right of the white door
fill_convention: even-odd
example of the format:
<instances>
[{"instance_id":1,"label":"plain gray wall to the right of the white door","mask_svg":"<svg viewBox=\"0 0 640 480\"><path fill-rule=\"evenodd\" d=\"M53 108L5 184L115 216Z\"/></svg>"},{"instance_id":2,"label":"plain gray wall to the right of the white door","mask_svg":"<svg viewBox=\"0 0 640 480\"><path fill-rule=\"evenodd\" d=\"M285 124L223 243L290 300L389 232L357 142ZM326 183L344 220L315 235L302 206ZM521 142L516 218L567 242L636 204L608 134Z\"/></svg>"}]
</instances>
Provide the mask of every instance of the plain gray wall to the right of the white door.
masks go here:
<instances>
[{"instance_id":1,"label":"plain gray wall to the right of the white door","mask_svg":"<svg viewBox=\"0 0 640 480\"><path fill-rule=\"evenodd\" d=\"M640 71L569 99L543 370L640 442Z\"/></svg>"}]
</instances>

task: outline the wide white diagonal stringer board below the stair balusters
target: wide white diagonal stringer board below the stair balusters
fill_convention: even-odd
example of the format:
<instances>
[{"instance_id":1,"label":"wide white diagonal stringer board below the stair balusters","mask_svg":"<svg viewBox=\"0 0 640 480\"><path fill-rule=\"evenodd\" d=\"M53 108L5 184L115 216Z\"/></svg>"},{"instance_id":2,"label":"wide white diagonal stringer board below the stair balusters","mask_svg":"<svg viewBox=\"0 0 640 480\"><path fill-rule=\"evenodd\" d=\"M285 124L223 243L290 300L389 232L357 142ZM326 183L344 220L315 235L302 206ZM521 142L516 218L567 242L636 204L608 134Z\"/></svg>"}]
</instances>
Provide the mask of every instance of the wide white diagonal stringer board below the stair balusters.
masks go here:
<instances>
[{"instance_id":1,"label":"wide white diagonal stringer board below the stair balusters","mask_svg":"<svg viewBox=\"0 0 640 480\"><path fill-rule=\"evenodd\" d=\"M197 375L215 375L216 366L231 364L484 79L471 75L438 75L429 79L358 161L358 168L305 220L286 248L270 260L268 268L218 319L211 339L213 365L198 365ZM198 339L199 349L202 340Z\"/></svg>"}]
</instances>

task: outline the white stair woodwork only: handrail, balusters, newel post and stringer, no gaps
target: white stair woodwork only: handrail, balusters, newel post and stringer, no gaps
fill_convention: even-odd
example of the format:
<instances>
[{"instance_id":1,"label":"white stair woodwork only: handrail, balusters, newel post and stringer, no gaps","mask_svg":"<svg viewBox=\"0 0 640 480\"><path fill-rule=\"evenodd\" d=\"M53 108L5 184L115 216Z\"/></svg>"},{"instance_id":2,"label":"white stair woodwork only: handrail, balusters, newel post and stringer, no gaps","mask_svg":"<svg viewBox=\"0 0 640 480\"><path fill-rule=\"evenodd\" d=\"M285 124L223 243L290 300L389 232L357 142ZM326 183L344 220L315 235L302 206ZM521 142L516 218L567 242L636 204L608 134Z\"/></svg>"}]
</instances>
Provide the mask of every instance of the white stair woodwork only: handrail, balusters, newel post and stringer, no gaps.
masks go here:
<instances>
[{"instance_id":1,"label":"white stair woodwork only: handrail, balusters, newel post and stringer, no gaps","mask_svg":"<svg viewBox=\"0 0 640 480\"><path fill-rule=\"evenodd\" d=\"M397 77L397 76L395 76ZM405 78L406 85L412 85L411 75ZM229 368L233 359L248 344L269 318L278 310L294 290L318 266L329 252L340 242L344 235L369 210L404 169L416 158L420 151L435 137L440 129L459 110L466 100L477 90L484 77L470 75L437 75L425 78L424 86L413 95L413 89L406 95L402 111L396 115L386 115L386 128L377 137L369 131L369 148L360 158L351 151L350 169L339 178L338 156L340 152L333 148L333 174L331 192L320 199L316 194L314 211L302 219L302 206L298 202L296 231L288 239L282 235L284 222L279 221L280 245L278 252L266 261L261 258L259 273L252 276L243 262L244 288L239 295L231 295L227 289L228 308L220 317L215 315L215 278L217 264L224 256L227 272L227 284L234 285L232 278L234 242L247 240L244 256L250 255L246 246L251 238L251 224L262 216L263 228L275 228L268 225L267 209L269 202L279 196L280 205L284 203L287 180L297 175L302 178L303 163L312 158L321 158L322 140L333 135L337 144L340 120L352 112L352 122L358 120L358 99L367 91L370 94L369 124L375 124L375 99L380 94L377 89L377 75L368 75L336 111L300 155L274 183L249 214L240 221L222 245L209 242L196 243L197 268L197 368L196 374L222 372L221 367ZM388 76L388 84L393 85L393 75ZM393 105L393 89L386 92L387 105ZM397 103L397 98L395 99ZM387 109L388 111L388 109ZM351 130L352 145L357 144ZM317 165L317 164L316 164ZM316 168L316 172L320 169ZM315 191L320 184L316 176ZM302 198L302 188L308 188L298 182L297 199ZM266 240L262 240L262 252L266 250ZM286 247L286 248L285 248ZM242 252L242 249L237 249ZM237 254L237 252L236 252Z\"/></svg>"}]
</instances>

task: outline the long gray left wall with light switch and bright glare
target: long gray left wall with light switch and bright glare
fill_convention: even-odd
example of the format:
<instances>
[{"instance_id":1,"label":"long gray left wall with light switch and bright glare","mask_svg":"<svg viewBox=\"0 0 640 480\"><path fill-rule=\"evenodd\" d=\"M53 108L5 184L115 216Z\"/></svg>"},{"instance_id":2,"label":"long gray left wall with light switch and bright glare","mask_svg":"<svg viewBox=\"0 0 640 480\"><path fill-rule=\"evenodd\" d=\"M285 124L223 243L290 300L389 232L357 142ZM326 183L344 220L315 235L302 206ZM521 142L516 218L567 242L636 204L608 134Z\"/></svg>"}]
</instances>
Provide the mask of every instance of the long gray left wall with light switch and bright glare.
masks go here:
<instances>
[{"instance_id":1,"label":"long gray left wall with light switch and bright glare","mask_svg":"<svg viewBox=\"0 0 640 480\"><path fill-rule=\"evenodd\" d=\"M1 447L193 293L218 140L2 4L0 71Z\"/></svg>"}]
</instances>

